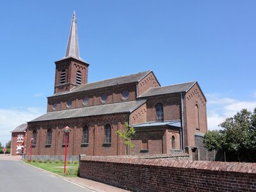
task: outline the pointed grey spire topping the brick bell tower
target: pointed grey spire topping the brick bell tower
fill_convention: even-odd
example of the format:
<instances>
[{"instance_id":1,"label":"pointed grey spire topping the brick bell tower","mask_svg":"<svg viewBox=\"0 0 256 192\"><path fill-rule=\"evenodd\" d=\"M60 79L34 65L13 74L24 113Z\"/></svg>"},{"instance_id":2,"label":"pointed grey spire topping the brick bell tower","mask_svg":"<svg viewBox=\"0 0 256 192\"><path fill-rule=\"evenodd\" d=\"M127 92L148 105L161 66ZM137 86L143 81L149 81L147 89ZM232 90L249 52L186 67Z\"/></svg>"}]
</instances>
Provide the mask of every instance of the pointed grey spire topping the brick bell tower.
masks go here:
<instances>
[{"instance_id":1,"label":"pointed grey spire topping the brick bell tower","mask_svg":"<svg viewBox=\"0 0 256 192\"><path fill-rule=\"evenodd\" d=\"M65 58L70 56L80 59L75 11L73 12L73 16L72 16L72 22L71 22L71 28L70 28L70 33L68 37L68 44L67 44L67 51L66 51Z\"/></svg>"}]
</instances>

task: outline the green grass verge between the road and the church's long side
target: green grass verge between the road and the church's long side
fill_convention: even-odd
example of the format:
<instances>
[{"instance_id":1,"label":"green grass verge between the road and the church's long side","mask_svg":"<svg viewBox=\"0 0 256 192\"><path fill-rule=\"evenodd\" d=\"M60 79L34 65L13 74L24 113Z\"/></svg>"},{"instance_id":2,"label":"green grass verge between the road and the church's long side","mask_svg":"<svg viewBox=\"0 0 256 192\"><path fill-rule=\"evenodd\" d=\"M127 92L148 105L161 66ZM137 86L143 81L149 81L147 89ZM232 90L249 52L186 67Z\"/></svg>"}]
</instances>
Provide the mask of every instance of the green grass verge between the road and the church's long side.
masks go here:
<instances>
[{"instance_id":1,"label":"green grass verge between the road and the church's long side","mask_svg":"<svg viewBox=\"0 0 256 192\"><path fill-rule=\"evenodd\" d=\"M24 163L30 164L28 161L24 161ZM52 173L56 173L64 177L77 177L78 164L67 164L66 175L63 174L64 172L63 163L58 163L58 164L57 163L38 163L38 162L31 161L31 165L36 166L38 168L42 168L43 170L47 170Z\"/></svg>"}]
</instances>

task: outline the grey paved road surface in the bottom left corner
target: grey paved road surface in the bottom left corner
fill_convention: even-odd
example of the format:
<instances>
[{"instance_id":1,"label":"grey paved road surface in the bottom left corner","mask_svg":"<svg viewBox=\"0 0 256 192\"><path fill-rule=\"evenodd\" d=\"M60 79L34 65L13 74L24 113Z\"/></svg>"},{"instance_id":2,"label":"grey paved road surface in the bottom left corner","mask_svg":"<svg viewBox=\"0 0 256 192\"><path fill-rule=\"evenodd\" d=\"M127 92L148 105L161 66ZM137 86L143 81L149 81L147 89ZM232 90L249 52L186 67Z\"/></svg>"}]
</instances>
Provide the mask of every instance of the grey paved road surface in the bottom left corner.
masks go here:
<instances>
[{"instance_id":1,"label":"grey paved road surface in the bottom left corner","mask_svg":"<svg viewBox=\"0 0 256 192\"><path fill-rule=\"evenodd\" d=\"M0 161L0 192L89 192L22 161Z\"/></svg>"}]
</instances>

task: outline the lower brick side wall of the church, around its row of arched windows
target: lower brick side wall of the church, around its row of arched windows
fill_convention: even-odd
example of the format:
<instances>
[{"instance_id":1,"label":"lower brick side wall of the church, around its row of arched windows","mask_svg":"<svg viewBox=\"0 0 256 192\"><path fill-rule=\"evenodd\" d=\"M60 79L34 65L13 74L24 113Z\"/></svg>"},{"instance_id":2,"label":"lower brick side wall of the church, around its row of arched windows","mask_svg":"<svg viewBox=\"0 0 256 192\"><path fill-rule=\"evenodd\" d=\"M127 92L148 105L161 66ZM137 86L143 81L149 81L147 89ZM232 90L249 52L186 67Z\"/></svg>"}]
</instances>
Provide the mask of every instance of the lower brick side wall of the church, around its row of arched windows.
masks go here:
<instances>
[{"instance_id":1,"label":"lower brick side wall of the church, around its row of arched windows","mask_svg":"<svg viewBox=\"0 0 256 192\"><path fill-rule=\"evenodd\" d=\"M28 123L28 141L33 136L33 130L37 131L36 145L33 146L34 155L61 156L65 152L63 127L70 127L69 144L67 147L68 156L87 154L90 156L117 156L124 155L122 140L117 136L116 131L124 129L124 122L129 121L129 115L104 115L83 118L71 118L67 120L53 120L51 122L30 122ZM104 125L111 125L111 145L105 146ZM81 145L83 138L83 127L88 125L88 145ZM52 143L45 145L47 141L47 129L52 129ZM30 154L27 150L26 154Z\"/></svg>"}]
</instances>

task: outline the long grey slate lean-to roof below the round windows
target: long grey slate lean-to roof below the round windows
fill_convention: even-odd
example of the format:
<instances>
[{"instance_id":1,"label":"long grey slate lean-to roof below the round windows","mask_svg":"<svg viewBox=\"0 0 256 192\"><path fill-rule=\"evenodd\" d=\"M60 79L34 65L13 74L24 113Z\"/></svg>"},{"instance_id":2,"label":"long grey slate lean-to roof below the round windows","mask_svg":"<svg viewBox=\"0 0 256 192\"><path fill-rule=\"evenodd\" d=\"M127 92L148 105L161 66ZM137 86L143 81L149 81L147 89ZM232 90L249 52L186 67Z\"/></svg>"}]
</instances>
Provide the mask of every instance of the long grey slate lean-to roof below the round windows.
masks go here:
<instances>
[{"instance_id":1,"label":"long grey slate lean-to roof below the round windows","mask_svg":"<svg viewBox=\"0 0 256 192\"><path fill-rule=\"evenodd\" d=\"M144 104L146 100L133 100L128 102L119 102L114 104L105 104L100 106L91 106L85 108L77 108L77 109L67 109L63 111L54 111L45 113L31 122L40 122L45 120L58 120L65 118L76 118L83 116L95 116L95 115L108 115L108 114L116 114L116 113L131 113L134 109L137 109L142 104Z\"/></svg>"}]
</instances>

